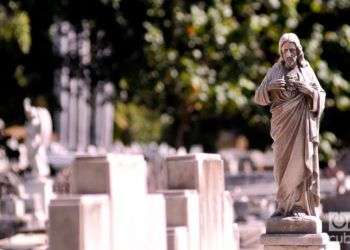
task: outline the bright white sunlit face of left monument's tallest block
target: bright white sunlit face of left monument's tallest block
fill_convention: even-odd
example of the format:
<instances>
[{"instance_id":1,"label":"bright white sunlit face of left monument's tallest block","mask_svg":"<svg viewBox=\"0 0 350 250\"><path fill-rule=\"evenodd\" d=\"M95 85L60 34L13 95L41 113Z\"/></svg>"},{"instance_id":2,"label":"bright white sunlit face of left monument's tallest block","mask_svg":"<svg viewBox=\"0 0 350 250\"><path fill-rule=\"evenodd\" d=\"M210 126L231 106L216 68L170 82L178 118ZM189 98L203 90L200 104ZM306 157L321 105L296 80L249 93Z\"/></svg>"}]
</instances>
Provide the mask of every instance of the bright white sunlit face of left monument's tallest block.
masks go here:
<instances>
[{"instance_id":1,"label":"bright white sunlit face of left monument's tallest block","mask_svg":"<svg viewBox=\"0 0 350 250\"><path fill-rule=\"evenodd\" d=\"M141 155L108 155L114 250L143 249L147 165Z\"/></svg>"}]
</instances>

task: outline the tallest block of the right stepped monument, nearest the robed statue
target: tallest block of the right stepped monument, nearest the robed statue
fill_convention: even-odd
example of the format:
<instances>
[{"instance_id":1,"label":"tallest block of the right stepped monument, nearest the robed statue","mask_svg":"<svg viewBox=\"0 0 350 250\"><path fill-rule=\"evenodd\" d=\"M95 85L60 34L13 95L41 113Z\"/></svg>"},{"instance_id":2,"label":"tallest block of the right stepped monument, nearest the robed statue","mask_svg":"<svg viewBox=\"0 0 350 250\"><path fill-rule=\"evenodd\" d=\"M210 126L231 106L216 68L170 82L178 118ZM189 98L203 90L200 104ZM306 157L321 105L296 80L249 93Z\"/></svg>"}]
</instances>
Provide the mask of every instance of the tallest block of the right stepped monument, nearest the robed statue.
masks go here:
<instances>
[{"instance_id":1,"label":"tallest block of the right stepped monument, nearest the robed statue","mask_svg":"<svg viewBox=\"0 0 350 250\"><path fill-rule=\"evenodd\" d=\"M168 157L168 189L195 189L199 195L200 249L224 249L224 166L220 155Z\"/></svg>"}]
</instances>

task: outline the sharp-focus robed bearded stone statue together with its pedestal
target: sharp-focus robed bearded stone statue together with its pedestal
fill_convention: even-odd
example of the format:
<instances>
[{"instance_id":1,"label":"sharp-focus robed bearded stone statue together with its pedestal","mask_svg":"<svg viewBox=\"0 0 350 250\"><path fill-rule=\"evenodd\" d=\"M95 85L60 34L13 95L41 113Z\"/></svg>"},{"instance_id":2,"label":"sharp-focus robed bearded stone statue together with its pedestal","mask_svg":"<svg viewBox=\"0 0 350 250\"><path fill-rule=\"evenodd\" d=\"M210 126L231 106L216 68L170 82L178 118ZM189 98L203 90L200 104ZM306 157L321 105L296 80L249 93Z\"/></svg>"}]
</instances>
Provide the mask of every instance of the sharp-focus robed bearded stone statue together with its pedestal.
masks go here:
<instances>
[{"instance_id":1,"label":"sharp-focus robed bearded stone statue together with its pedestal","mask_svg":"<svg viewBox=\"0 0 350 250\"><path fill-rule=\"evenodd\" d=\"M322 233L319 125L326 93L305 60L299 38L282 35L279 60L255 92L259 105L270 105L277 209L261 242L273 249L337 249ZM328 248L327 248L328 247Z\"/></svg>"}]
</instances>

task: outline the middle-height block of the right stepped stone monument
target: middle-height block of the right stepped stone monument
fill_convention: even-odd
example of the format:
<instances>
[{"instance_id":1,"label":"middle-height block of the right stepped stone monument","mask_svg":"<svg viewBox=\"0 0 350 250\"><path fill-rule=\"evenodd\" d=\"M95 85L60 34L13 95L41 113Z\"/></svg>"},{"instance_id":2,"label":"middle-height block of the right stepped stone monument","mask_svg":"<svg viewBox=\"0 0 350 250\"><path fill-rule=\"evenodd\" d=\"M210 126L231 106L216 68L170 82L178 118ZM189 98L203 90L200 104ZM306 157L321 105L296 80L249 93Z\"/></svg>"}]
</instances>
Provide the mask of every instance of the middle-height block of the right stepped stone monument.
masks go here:
<instances>
[{"instance_id":1,"label":"middle-height block of the right stepped stone monument","mask_svg":"<svg viewBox=\"0 0 350 250\"><path fill-rule=\"evenodd\" d=\"M167 226L184 226L190 250L199 250L199 199L195 190L160 191L166 199Z\"/></svg>"}]
</instances>

